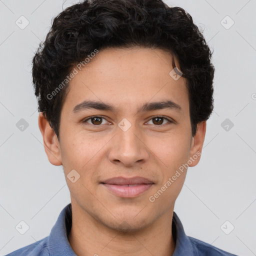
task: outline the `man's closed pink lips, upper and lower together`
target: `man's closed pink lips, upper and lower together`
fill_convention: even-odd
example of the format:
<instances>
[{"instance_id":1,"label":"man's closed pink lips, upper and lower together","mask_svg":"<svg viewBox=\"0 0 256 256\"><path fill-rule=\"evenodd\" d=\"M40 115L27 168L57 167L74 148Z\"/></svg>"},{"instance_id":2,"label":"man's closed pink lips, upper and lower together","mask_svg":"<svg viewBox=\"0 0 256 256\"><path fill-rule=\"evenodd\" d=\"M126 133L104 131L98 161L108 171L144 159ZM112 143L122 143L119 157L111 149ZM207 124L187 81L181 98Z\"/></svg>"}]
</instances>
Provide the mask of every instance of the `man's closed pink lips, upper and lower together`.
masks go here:
<instances>
[{"instance_id":1,"label":"man's closed pink lips, upper and lower together","mask_svg":"<svg viewBox=\"0 0 256 256\"><path fill-rule=\"evenodd\" d=\"M113 177L100 182L112 193L120 197L135 197L148 190L154 182L144 177Z\"/></svg>"}]
</instances>

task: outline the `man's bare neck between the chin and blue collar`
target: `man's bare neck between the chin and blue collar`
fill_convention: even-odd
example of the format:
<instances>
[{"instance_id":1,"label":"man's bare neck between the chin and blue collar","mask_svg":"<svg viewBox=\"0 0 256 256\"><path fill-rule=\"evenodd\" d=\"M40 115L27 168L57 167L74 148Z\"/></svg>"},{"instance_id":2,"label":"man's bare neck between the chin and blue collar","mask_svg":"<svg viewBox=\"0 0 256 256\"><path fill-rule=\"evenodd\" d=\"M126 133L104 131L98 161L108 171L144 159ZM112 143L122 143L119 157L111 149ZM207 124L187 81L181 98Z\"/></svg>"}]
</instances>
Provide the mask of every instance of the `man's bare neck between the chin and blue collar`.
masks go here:
<instances>
[{"instance_id":1,"label":"man's bare neck between the chin and blue collar","mask_svg":"<svg viewBox=\"0 0 256 256\"><path fill-rule=\"evenodd\" d=\"M175 249L171 232L173 209L143 229L121 232L109 228L72 203L68 241L77 256L170 256Z\"/></svg>"}]
</instances>

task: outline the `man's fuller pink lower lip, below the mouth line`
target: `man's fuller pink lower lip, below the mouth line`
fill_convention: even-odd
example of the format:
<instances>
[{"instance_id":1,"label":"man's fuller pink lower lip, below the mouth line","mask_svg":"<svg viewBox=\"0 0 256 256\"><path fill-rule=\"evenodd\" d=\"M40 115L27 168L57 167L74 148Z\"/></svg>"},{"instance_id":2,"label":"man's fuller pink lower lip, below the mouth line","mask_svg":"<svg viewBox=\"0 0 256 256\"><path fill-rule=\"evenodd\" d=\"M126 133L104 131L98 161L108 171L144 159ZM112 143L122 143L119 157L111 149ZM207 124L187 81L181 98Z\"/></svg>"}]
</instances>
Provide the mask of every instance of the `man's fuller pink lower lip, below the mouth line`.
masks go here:
<instances>
[{"instance_id":1,"label":"man's fuller pink lower lip, below the mouth line","mask_svg":"<svg viewBox=\"0 0 256 256\"><path fill-rule=\"evenodd\" d=\"M134 197L148 190L153 184L138 184L135 186L104 184L110 191L121 197Z\"/></svg>"}]
</instances>

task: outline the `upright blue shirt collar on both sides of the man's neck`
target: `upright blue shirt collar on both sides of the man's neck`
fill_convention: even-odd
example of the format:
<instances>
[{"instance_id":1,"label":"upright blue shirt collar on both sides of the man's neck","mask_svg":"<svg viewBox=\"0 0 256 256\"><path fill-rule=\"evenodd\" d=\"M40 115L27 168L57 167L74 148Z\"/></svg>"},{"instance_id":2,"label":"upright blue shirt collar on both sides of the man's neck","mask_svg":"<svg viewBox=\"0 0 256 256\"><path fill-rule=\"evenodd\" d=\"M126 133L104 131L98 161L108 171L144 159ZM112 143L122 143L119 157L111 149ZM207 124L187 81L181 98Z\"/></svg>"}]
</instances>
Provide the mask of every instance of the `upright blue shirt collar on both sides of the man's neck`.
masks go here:
<instances>
[{"instance_id":1,"label":"upright blue shirt collar on both sides of the man's neck","mask_svg":"<svg viewBox=\"0 0 256 256\"><path fill-rule=\"evenodd\" d=\"M67 235L72 225L71 203L67 204L59 213L56 223L52 227L48 236L48 249L50 255L66 255L75 256L72 250ZM181 221L177 214L173 212L172 218L172 234L176 242L175 251L172 256L195 256L192 244L186 236Z\"/></svg>"}]
</instances>

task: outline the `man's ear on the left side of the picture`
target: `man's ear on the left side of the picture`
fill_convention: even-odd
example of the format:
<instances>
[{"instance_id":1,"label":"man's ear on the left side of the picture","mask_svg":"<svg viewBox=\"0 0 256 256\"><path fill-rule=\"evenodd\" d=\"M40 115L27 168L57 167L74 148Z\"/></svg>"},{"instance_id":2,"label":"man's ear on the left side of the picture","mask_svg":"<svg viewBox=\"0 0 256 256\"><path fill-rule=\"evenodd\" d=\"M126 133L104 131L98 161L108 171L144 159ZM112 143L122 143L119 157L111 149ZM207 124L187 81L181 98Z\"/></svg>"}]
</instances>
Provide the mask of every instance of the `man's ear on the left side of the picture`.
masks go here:
<instances>
[{"instance_id":1,"label":"man's ear on the left side of the picture","mask_svg":"<svg viewBox=\"0 0 256 256\"><path fill-rule=\"evenodd\" d=\"M40 112L38 116L38 126L42 133L43 146L49 162L53 165L61 165L62 160L60 155L59 141L42 112Z\"/></svg>"}]
</instances>

